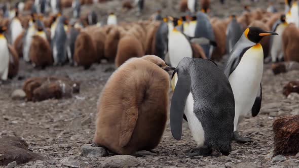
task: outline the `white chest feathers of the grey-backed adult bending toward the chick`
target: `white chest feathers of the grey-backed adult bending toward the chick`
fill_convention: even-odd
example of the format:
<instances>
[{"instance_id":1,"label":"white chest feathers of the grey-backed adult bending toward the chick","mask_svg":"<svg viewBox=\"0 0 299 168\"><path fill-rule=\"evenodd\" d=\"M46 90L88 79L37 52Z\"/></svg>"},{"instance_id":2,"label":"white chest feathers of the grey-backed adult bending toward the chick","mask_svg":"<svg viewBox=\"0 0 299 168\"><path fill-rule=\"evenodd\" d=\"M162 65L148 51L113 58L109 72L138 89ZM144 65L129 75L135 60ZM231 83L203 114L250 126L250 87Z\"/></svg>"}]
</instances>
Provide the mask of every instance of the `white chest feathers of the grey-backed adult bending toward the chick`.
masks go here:
<instances>
[{"instance_id":1,"label":"white chest feathers of the grey-backed adult bending toward the chick","mask_svg":"<svg viewBox=\"0 0 299 168\"><path fill-rule=\"evenodd\" d=\"M205 142L204 130L201 122L198 120L195 113L193 112L193 108L194 108L194 100L192 94L190 93L186 100L184 114L188 119L189 129L191 130L191 134L196 144L199 147L202 147Z\"/></svg>"}]
</instances>

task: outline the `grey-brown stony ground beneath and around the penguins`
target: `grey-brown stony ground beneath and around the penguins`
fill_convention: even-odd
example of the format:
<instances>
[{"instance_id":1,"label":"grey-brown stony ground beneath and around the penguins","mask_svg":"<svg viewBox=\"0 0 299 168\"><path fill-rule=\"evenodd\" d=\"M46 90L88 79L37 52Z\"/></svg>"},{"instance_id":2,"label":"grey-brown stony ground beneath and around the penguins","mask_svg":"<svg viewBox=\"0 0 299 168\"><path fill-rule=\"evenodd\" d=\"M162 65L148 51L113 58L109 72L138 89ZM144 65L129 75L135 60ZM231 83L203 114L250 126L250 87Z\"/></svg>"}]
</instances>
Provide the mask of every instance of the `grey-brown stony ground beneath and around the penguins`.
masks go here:
<instances>
[{"instance_id":1,"label":"grey-brown stony ground beneath and around the penguins","mask_svg":"<svg viewBox=\"0 0 299 168\"><path fill-rule=\"evenodd\" d=\"M146 2L153 4L157 2L158 6L163 4L162 0ZM179 14L176 13L176 1L163 2L166 6L168 4L171 7L163 10L164 14ZM172 2L173 4L171 4ZM230 13L227 11L242 11L240 5L234 0L230 0L223 8L218 1L212 2L212 16L228 16ZM246 3L248 4L249 1L243 4ZM116 4L120 4L119 1L108 2L106 6L109 8L105 10L114 9ZM266 8L266 4L263 1L254 6ZM149 16L156 8L156 6L147 6L144 15ZM117 11L119 14L124 13L121 17L123 20L137 19L133 15L134 10L124 12L118 7ZM80 149L84 144L92 141L98 96L106 80L113 73L111 67L114 65L106 63L93 65L90 70L86 71L82 67L68 65L38 70L21 61L20 76L25 78L48 75L69 76L71 79L81 82L81 93L71 99L33 103L11 98L12 92L22 87L24 79L15 78L9 83L0 85L0 136L22 137L29 144L30 149L45 158L17 167L101 167L114 160L110 157L111 155L95 158L84 157ZM233 151L229 156L222 156L217 152L207 157L189 158L185 156L185 153L195 148L196 144L192 140L188 125L184 123L181 141L176 141L171 136L168 124L162 142L153 150L154 153L143 152L143 154L139 153L137 156L127 159L139 167L299 167L299 158L295 156L272 158L274 148L272 123L274 119L282 115L299 114L299 96L291 95L286 98L282 95L283 86L290 80L298 80L298 76L299 71L290 71L274 76L270 65L265 65L263 102L260 114L254 118L248 114L240 124L241 134L251 137L254 142L233 143ZM117 160L126 159L120 157Z\"/></svg>"}]
</instances>

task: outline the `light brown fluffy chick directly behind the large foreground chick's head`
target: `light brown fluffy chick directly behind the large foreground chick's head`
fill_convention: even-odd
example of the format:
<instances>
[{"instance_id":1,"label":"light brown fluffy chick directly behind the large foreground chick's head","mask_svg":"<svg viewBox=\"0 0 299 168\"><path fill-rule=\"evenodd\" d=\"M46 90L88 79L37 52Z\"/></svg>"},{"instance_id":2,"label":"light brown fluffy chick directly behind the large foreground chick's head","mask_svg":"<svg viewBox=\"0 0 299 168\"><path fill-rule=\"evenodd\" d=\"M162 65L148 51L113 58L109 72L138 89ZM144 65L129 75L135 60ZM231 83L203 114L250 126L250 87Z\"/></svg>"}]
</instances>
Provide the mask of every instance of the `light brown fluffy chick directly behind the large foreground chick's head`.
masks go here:
<instances>
[{"instance_id":1,"label":"light brown fluffy chick directly behind the large foreground chick's head","mask_svg":"<svg viewBox=\"0 0 299 168\"><path fill-rule=\"evenodd\" d=\"M142 57L144 52L139 41L133 35L126 35L121 38L115 58L115 66L119 67L128 59Z\"/></svg>"}]
</instances>

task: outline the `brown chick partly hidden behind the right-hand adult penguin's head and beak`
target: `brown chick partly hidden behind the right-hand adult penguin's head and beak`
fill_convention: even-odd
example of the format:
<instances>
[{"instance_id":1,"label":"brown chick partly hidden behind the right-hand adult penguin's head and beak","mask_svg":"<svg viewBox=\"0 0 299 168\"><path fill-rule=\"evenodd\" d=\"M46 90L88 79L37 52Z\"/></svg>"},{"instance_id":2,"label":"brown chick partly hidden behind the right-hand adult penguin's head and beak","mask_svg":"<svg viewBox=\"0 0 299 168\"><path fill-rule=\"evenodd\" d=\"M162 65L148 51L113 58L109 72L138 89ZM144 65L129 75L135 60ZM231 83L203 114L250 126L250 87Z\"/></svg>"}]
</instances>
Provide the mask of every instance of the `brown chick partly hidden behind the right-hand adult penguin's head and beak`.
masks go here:
<instances>
[{"instance_id":1,"label":"brown chick partly hidden behind the right-hand adult penguin's head and beak","mask_svg":"<svg viewBox=\"0 0 299 168\"><path fill-rule=\"evenodd\" d=\"M265 23L261 21L253 21L250 26L255 26L259 27L263 30L270 31L270 27L265 25ZM264 58L268 57L269 55L269 50L270 50L270 36L265 36L263 39L260 40L261 46L263 46L263 51L264 51Z\"/></svg>"}]
</instances>

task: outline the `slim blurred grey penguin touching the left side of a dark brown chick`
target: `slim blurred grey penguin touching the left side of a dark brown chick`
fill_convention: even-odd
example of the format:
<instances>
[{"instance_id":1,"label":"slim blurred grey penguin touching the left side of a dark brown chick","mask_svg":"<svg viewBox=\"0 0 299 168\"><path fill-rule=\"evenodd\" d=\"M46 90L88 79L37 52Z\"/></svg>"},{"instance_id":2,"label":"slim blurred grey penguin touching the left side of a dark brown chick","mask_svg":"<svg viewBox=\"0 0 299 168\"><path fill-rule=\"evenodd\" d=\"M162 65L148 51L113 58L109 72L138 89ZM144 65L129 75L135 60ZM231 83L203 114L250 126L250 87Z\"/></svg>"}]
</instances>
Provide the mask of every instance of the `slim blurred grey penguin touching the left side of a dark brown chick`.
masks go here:
<instances>
[{"instance_id":1,"label":"slim blurred grey penguin touching the left side of a dark brown chick","mask_svg":"<svg viewBox=\"0 0 299 168\"><path fill-rule=\"evenodd\" d=\"M80 31L73 26L69 28L67 32L67 58L69 63L73 64L73 55L74 55L74 46L76 43L77 36L79 35Z\"/></svg>"}]
</instances>

